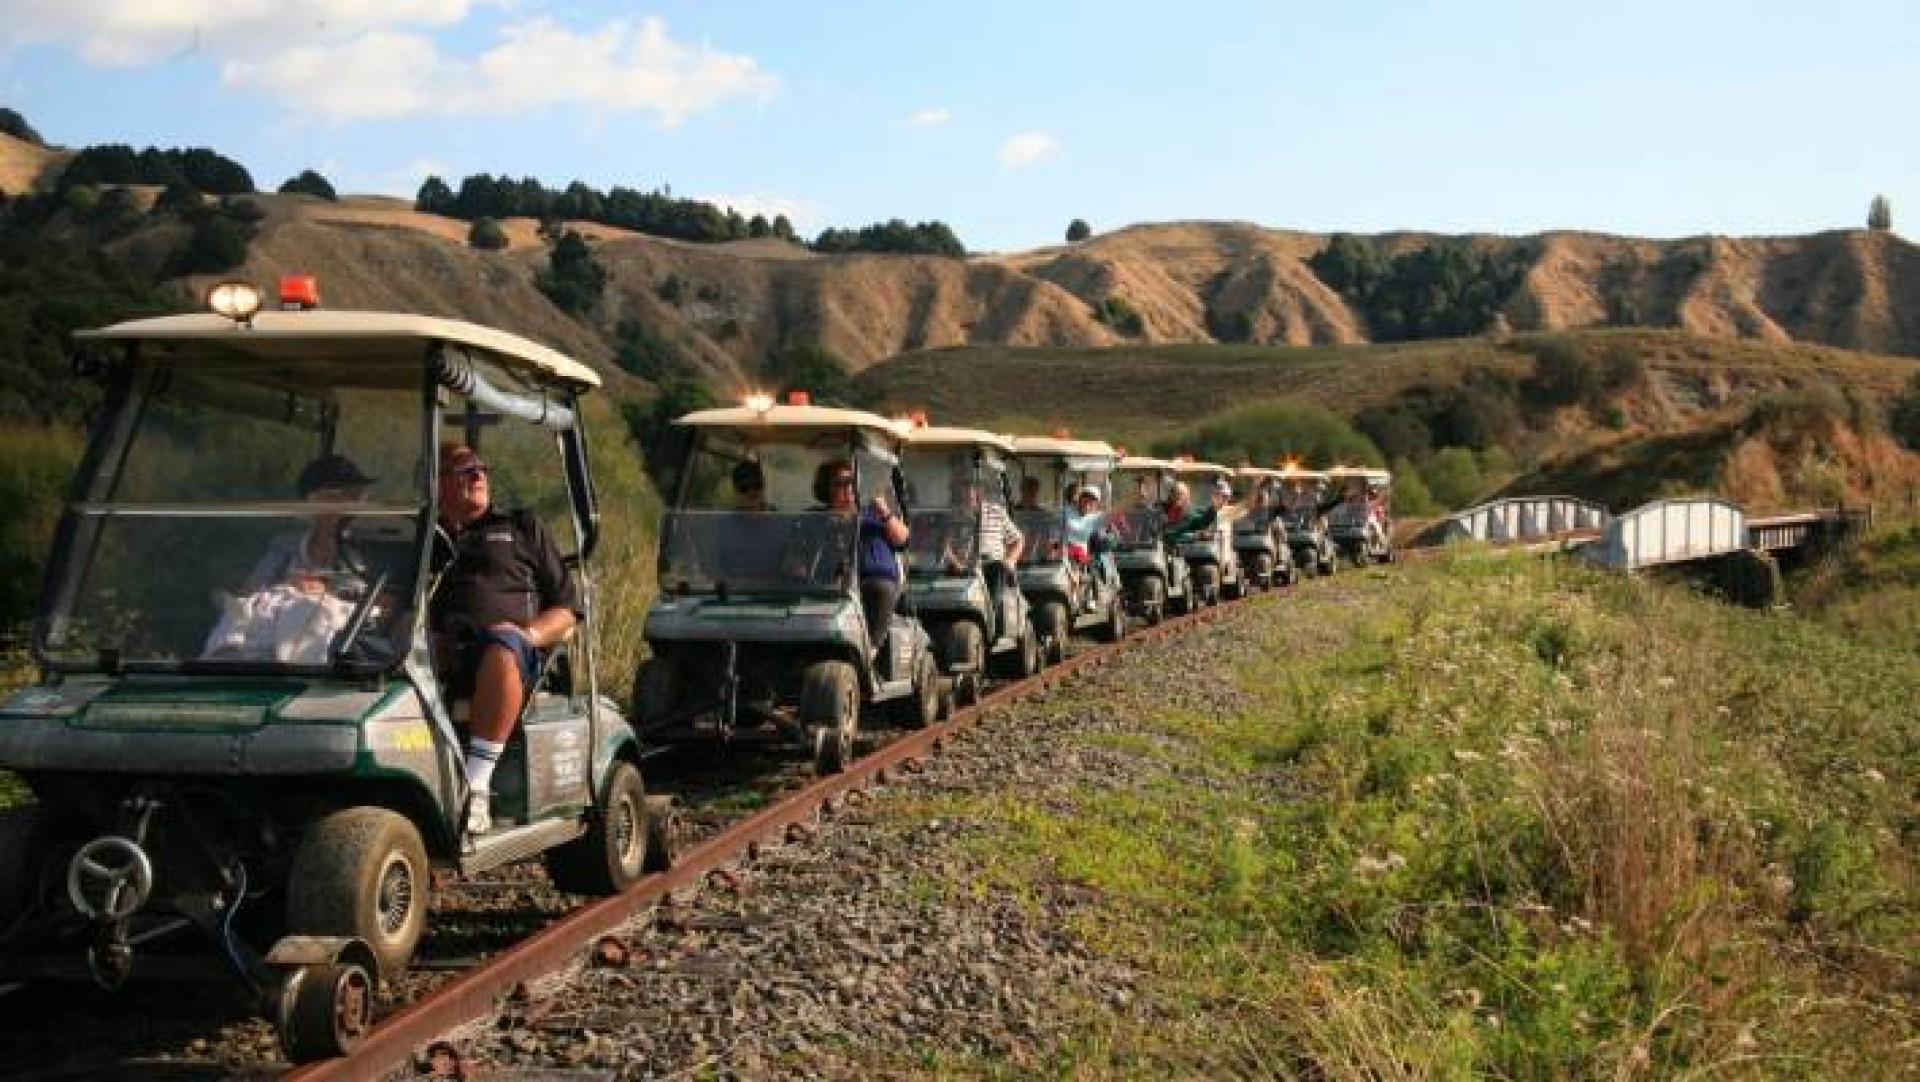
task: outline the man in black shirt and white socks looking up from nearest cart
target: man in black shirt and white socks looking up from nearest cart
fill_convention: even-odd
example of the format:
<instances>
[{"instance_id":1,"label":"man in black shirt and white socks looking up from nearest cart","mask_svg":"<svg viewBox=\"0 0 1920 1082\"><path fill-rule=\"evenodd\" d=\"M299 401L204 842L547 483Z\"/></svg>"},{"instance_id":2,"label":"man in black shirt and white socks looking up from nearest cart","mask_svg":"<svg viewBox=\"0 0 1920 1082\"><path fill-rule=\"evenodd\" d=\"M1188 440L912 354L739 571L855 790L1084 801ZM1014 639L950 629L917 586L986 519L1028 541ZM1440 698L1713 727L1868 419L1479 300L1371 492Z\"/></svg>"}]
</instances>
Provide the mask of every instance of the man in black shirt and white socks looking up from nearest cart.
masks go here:
<instances>
[{"instance_id":1,"label":"man in black shirt and white socks looking up from nearest cart","mask_svg":"<svg viewBox=\"0 0 1920 1082\"><path fill-rule=\"evenodd\" d=\"M540 650L580 622L580 591L545 528L528 512L493 508L488 464L459 443L440 447L440 528L453 541L434 591L434 641L451 647L472 679L467 831L484 835L493 767L540 673ZM438 650L442 656L447 650Z\"/></svg>"}]
</instances>

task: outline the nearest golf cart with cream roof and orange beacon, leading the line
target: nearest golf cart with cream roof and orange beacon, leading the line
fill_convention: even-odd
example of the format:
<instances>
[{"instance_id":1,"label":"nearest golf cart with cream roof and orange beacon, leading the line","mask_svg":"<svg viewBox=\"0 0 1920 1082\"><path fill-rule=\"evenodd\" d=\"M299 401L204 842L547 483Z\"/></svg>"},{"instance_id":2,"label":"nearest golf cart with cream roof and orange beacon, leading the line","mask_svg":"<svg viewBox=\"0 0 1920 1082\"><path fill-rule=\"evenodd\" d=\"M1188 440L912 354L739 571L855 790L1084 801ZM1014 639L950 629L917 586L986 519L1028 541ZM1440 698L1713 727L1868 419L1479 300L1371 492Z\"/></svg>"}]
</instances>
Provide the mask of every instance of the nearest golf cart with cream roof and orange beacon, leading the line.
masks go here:
<instances>
[{"instance_id":1,"label":"nearest golf cart with cream roof and orange beacon, leading the line","mask_svg":"<svg viewBox=\"0 0 1920 1082\"><path fill-rule=\"evenodd\" d=\"M317 301L311 278L282 294ZM649 867L593 614L545 658L484 836L426 633L444 439L484 451L495 495L513 485L588 574L576 397L599 378L467 322L259 313L234 282L211 301L79 334L106 399L48 566L40 681L0 700L0 767L35 794L0 812L0 980L238 976L307 1061L369 1028L432 869L543 854L563 888L616 892ZM338 558L269 568L296 549Z\"/></svg>"}]
</instances>

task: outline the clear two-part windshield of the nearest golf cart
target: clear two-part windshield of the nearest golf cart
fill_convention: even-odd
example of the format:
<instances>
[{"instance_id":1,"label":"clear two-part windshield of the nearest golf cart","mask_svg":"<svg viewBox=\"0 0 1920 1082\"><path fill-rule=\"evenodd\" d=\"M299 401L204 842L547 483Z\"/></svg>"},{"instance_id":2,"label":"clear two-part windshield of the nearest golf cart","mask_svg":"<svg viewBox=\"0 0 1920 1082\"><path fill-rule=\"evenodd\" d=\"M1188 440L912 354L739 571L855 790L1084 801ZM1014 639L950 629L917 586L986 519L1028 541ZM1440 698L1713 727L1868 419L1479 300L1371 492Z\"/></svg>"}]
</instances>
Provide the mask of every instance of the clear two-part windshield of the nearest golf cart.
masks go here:
<instances>
[{"instance_id":1,"label":"clear two-part windshield of the nearest golf cart","mask_svg":"<svg viewBox=\"0 0 1920 1082\"><path fill-rule=\"evenodd\" d=\"M424 361L138 361L109 393L36 645L61 670L382 670L407 650Z\"/></svg>"}]
</instances>

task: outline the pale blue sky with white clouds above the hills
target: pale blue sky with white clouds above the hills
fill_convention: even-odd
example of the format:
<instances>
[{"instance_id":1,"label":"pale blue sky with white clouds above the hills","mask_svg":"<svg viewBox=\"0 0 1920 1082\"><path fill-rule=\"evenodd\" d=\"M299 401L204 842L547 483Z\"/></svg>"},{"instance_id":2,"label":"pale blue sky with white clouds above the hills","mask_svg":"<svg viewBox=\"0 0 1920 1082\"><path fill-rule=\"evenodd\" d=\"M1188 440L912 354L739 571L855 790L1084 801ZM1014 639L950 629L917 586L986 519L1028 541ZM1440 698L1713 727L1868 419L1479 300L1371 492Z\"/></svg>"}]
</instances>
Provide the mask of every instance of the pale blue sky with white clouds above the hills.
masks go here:
<instances>
[{"instance_id":1,"label":"pale blue sky with white clouds above the hills","mask_svg":"<svg viewBox=\"0 0 1920 1082\"><path fill-rule=\"evenodd\" d=\"M0 0L50 142L411 196L580 178L941 219L1753 236L1920 213L1920 6Z\"/></svg>"}]
</instances>

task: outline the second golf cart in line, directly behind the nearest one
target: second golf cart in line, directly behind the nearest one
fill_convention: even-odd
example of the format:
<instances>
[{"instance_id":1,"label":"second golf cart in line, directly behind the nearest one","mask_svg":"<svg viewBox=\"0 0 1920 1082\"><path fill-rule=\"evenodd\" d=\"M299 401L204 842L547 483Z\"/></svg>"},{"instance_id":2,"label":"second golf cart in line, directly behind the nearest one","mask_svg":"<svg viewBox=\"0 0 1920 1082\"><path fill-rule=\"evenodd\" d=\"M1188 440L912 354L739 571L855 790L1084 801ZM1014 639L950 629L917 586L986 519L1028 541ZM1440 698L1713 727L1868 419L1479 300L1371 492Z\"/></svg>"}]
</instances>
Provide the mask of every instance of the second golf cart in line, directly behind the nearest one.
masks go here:
<instances>
[{"instance_id":1,"label":"second golf cart in line, directly behind the nearest one","mask_svg":"<svg viewBox=\"0 0 1920 1082\"><path fill-rule=\"evenodd\" d=\"M904 514L900 426L806 403L691 412L672 510L660 524L653 656L634 712L649 742L804 748L820 773L854 758L862 706L902 725L941 712L933 645L895 606L868 627L860 516L881 497ZM833 491L839 478L851 489ZM900 600L910 604L902 591Z\"/></svg>"}]
</instances>

